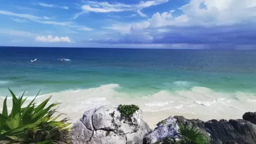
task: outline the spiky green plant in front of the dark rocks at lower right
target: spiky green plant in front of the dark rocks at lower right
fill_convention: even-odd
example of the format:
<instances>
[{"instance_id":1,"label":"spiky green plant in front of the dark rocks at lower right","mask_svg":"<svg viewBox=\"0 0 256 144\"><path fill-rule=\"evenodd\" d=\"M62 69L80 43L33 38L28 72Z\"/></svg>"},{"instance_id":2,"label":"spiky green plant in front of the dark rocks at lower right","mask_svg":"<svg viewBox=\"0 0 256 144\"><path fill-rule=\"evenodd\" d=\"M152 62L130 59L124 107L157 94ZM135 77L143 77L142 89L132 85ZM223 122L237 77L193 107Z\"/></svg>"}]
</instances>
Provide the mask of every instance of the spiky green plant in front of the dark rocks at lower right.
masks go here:
<instances>
[{"instance_id":1,"label":"spiky green plant in front of the dark rocks at lower right","mask_svg":"<svg viewBox=\"0 0 256 144\"><path fill-rule=\"evenodd\" d=\"M178 134L181 135L180 144L208 144L209 141L204 133L202 133L195 126L188 127L179 125Z\"/></svg>"}]
</instances>

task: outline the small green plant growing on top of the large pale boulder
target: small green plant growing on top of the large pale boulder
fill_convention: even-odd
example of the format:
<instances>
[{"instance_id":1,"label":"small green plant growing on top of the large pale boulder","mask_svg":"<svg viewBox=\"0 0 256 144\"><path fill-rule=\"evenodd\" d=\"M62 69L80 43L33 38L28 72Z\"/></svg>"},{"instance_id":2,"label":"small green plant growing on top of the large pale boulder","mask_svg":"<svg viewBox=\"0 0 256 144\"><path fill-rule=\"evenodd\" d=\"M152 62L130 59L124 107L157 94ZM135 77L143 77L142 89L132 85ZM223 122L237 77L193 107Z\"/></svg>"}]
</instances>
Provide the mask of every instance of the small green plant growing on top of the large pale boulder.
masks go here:
<instances>
[{"instance_id":1,"label":"small green plant growing on top of the large pale boulder","mask_svg":"<svg viewBox=\"0 0 256 144\"><path fill-rule=\"evenodd\" d=\"M138 109L140 109L136 105L119 105L118 111L120 111L122 116L130 117L132 116Z\"/></svg>"}]
</instances>

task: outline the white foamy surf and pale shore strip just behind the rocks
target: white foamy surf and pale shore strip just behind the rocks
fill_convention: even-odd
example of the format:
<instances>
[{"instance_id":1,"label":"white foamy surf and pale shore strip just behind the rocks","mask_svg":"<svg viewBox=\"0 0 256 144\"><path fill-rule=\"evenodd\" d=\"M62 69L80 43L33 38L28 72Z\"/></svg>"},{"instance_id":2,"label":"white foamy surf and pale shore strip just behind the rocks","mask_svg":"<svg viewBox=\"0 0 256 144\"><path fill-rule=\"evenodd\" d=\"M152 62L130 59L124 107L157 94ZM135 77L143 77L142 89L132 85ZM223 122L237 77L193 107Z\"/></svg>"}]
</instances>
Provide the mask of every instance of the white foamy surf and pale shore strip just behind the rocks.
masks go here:
<instances>
[{"instance_id":1,"label":"white foamy surf and pale shore strip just behind the rocks","mask_svg":"<svg viewBox=\"0 0 256 144\"><path fill-rule=\"evenodd\" d=\"M67 114L83 113L102 105L136 104L145 112L163 111L170 115L182 113L184 116L193 114L194 117L205 120L241 118L244 112L256 109L256 94L252 93L225 93L204 87L192 87L189 90L160 90L154 94L133 96L133 93L119 91L120 88L122 87L119 84L106 84L96 88L66 90L41 95L37 102L53 96L51 103L61 102L59 111Z\"/></svg>"}]
</instances>

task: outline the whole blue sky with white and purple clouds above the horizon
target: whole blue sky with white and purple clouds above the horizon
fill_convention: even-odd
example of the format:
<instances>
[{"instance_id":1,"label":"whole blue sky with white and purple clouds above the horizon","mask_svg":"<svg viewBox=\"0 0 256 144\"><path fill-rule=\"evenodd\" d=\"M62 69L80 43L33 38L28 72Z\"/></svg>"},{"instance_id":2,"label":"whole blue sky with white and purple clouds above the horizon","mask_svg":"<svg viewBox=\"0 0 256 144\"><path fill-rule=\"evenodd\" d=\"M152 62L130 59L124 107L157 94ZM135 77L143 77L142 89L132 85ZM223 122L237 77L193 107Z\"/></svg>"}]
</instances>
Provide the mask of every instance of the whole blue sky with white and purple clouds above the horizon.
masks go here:
<instances>
[{"instance_id":1,"label":"whole blue sky with white and purple clouds above the horizon","mask_svg":"<svg viewBox=\"0 0 256 144\"><path fill-rule=\"evenodd\" d=\"M255 0L0 3L0 46L256 49Z\"/></svg>"}]
</instances>

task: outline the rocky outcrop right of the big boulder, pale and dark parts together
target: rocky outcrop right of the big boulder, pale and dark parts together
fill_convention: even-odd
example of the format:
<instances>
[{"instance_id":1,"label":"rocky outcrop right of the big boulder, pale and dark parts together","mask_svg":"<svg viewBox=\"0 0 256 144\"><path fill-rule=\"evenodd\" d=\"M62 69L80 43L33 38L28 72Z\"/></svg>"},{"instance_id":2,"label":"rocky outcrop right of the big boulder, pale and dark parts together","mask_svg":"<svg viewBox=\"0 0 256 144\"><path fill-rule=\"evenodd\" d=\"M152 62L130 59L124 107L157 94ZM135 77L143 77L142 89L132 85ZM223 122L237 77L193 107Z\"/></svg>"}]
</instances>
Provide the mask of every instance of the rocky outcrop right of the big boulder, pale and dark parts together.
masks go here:
<instances>
[{"instance_id":1,"label":"rocky outcrop right of the big boulder, pale and dark parts together","mask_svg":"<svg viewBox=\"0 0 256 144\"><path fill-rule=\"evenodd\" d=\"M249 116L252 117L252 116ZM251 119L252 121L252 119ZM213 144L255 144L256 125L244 119L225 119L201 121L186 119L183 116L168 117L158 124L149 135L144 138L145 144L156 143L164 137L177 137L179 124L195 126L208 137Z\"/></svg>"}]
</instances>

